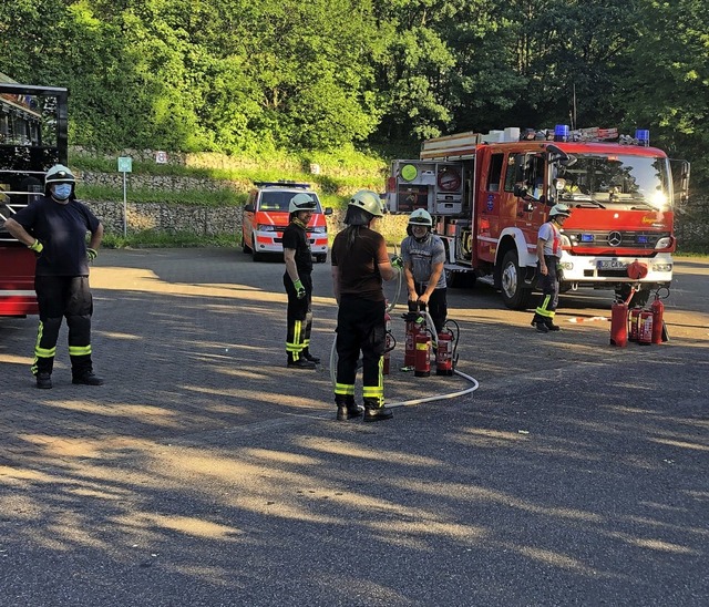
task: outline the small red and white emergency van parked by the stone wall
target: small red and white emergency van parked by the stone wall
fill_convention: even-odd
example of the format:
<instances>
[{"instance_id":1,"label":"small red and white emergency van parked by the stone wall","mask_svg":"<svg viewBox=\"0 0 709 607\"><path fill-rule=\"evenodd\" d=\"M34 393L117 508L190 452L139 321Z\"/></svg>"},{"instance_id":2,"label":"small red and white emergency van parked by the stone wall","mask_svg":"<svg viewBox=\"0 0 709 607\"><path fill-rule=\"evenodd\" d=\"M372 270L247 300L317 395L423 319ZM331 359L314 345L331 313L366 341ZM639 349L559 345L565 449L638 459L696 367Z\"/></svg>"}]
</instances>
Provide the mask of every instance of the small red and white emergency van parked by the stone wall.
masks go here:
<instances>
[{"instance_id":1,"label":"small red and white emergency van parked by the stone wall","mask_svg":"<svg viewBox=\"0 0 709 607\"><path fill-rule=\"evenodd\" d=\"M254 261L258 261L269 254L282 256L284 229L288 226L288 205L296 194L307 194L317 204L315 213L308 224L308 240L315 260L325 264L328 257L328 226L326 215L332 215L332 209L320 205L318 195L312 192L310 184L297 182L255 182L256 187L248 195L244 206L242 220L242 248L250 253Z\"/></svg>"}]
</instances>

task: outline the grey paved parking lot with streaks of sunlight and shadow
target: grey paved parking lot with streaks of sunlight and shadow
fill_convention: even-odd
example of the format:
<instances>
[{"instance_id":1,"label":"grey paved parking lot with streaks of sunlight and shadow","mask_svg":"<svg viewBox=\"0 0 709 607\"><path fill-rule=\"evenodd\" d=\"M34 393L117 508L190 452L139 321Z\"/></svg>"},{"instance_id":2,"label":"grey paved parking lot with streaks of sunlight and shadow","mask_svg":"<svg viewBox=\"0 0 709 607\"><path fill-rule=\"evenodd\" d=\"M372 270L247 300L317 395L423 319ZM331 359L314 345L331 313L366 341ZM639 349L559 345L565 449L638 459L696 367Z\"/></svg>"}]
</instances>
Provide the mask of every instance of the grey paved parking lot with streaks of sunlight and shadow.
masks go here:
<instances>
[{"instance_id":1,"label":"grey paved parking lot with streaks of sunlight and shadow","mask_svg":"<svg viewBox=\"0 0 709 607\"><path fill-rule=\"evenodd\" d=\"M610 347L607 292L541 336L451 289L466 377L413 378L399 348L387 401L440 399L378 424L333 419L328 265L325 363L286 369L281 275L102 250L102 387L71 383L63 330L35 390L37 320L0 319L0 605L709 603L709 260L679 261L661 346Z\"/></svg>"}]
</instances>

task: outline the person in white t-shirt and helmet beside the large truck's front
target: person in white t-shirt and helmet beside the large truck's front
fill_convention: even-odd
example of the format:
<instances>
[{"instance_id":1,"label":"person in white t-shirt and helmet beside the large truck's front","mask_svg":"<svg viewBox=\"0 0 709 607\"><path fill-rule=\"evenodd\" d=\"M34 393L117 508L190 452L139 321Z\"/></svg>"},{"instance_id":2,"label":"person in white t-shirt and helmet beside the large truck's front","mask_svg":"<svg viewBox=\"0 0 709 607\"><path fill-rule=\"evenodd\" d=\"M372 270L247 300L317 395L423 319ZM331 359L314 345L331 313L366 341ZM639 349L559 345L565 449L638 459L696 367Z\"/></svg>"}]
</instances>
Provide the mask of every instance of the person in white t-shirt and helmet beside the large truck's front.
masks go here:
<instances>
[{"instance_id":1,"label":"person in white t-shirt and helmet beside the large truck's front","mask_svg":"<svg viewBox=\"0 0 709 607\"><path fill-rule=\"evenodd\" d=\"M558 204L549 210L549 220L540 226L536 241L536 256L540 282L542 286L542 302L534 311L532 327L541 333L558 331L554 323L554 315L558 305L558 288L562 270L558 261L562 257L562 235L559 228L572 214L571 209Z\"/></svg>"}]
</instances>

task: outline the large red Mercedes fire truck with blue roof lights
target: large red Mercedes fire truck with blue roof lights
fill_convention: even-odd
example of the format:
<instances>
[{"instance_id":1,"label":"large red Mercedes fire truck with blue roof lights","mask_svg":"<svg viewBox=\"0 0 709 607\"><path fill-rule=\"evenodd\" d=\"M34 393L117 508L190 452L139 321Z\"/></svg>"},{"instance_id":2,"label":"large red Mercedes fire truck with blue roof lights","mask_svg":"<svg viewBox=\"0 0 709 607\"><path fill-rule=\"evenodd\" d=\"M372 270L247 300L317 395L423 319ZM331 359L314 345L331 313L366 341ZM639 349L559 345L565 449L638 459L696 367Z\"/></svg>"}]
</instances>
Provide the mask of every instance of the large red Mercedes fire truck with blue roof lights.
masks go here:
<instances>
[{"instance_id":1,"label":"large red Mercedes fire truck with blue roof lights","mask_svg":"<svg viewBox=\"0 0 709 607\"><path fill-rule=\"evenodd\" d=\"M562 292L613 289L643 305L672 280L674 217L688 196L689 163L649 145L649 132L557 125L459 133L424 141L419 160L391 166L392 213L427 209L446 246L450 286L493 285L511 309L536 287L540 226L557 203Z\"/></svg>"}]
</instances>

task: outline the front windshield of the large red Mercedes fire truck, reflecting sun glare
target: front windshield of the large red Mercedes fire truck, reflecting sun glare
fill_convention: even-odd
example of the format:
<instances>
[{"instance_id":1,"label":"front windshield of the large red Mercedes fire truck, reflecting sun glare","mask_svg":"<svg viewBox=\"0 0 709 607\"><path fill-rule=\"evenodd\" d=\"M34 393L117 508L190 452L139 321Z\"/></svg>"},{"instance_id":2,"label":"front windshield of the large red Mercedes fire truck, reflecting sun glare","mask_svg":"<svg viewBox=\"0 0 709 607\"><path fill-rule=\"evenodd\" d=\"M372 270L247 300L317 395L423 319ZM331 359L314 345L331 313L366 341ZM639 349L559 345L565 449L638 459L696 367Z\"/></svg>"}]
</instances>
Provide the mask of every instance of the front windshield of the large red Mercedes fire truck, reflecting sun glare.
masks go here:
<instances>
[{"instance_id":1,"label":"front windshield of the large red Mercedes fire truck, reflecting sun glare","mask_svg":"<svg viewBox=\"0 0 709 607\"><path fill-rule=\"evenodd\" d=\"M667 158L634 155L579 154L568 167L559 166L556 186L559 200L579 206L671 208Z\"/></svg>"}]
</instances>

